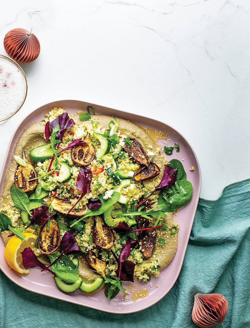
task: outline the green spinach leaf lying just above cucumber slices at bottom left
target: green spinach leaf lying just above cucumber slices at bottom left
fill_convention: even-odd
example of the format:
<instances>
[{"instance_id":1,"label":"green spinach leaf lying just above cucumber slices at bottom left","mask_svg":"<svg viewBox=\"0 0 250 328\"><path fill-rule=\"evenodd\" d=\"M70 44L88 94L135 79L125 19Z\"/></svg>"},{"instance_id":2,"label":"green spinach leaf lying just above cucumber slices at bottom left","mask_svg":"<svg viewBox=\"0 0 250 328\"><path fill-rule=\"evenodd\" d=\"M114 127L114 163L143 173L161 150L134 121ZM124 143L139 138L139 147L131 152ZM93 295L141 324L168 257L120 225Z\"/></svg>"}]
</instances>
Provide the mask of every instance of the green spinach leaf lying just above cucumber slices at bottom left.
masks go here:
<instances>
[{"instance_id":1,"label":"green spinach leaf lying just above cucumber slices at bottom left","mask_svg":"<svg viewBox=\"0 0 250 328\"><path fill-rule=\"evenodd\" d=\"M50 262L57 259L58 255L48 254ZM60 279L67 283L74 283L79 279L78 267L71 261L68 256L62 256L55 264L51 265L51 269Z\"/></svg>"}]
</instances>

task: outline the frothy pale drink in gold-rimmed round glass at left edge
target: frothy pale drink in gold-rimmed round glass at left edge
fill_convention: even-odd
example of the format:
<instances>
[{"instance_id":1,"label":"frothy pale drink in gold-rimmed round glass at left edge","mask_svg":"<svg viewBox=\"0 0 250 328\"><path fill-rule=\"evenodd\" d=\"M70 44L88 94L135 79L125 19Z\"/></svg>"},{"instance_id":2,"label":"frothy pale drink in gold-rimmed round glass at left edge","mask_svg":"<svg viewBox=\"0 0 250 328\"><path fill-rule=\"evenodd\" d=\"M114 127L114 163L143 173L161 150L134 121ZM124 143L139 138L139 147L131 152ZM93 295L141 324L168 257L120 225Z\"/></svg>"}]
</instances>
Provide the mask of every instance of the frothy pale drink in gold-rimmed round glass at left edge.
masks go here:
<instances>
[{"instance_id":1,"label":"frothy pale drink in gold-rimmed round glass at left edge","mask_svg":"<svg viewBox=\"0 0 250 328\"><path fill-rule=\"evenodd\" d=\"M26 94L27 81L23 70L11 58L0 55L0 122L22 107Z\"/></svg>"}]
</instances>

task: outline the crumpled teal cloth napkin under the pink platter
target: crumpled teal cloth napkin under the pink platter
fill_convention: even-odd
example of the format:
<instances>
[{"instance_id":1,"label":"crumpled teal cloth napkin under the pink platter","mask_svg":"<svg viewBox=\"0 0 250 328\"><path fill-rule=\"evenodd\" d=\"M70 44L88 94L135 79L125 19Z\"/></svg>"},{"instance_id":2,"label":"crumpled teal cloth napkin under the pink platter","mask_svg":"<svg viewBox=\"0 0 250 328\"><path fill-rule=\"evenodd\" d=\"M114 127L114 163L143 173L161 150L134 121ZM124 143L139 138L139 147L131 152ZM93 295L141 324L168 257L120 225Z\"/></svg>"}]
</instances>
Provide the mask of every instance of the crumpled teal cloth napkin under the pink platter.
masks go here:
<instances>
[{"instance_id":1,"label":"crumpled teal cloth napkin under the pink platter","mask_svg":"<svg viewBox=\"0 0 250 328\"><path fill-rule=\"evenodd\" d=\"M199 200L181 273L170 292L139 313L115 315L28 292L0 271L0 327L197 327L196 293L223 294L225 328L250 327L250 179Z\"/></svg>"}]
</instances>

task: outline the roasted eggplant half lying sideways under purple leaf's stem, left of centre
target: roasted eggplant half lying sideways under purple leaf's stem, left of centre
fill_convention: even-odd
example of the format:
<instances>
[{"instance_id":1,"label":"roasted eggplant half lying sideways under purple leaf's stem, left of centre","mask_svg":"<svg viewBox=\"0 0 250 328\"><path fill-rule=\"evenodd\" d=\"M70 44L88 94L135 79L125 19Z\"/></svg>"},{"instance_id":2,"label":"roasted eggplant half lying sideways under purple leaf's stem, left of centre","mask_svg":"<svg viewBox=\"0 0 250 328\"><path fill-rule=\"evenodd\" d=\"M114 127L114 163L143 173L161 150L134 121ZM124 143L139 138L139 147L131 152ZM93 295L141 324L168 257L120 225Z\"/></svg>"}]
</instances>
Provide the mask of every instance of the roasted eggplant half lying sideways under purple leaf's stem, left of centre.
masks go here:
<instances>
[{"instance_id":1,"label":"roasted eggplant half lying sideways under purple leaf's stem, left of centre","mask_svg":"<svg viewBox=\"0 0 250 328\"><path fill-rule=\"evenodd\" d=\"M72 204L69 199L62 199L54 197L51 202L49 202L53 210L56 211L58 214L62 214L64 216L70 217L72 219L80 218L87 212L87 207L83 206L80 211L76 211L74 208L73 210L68 214L68 211L72 208ZM49 205L49 203L46 203Z\"/></svg>"}]
</instances>

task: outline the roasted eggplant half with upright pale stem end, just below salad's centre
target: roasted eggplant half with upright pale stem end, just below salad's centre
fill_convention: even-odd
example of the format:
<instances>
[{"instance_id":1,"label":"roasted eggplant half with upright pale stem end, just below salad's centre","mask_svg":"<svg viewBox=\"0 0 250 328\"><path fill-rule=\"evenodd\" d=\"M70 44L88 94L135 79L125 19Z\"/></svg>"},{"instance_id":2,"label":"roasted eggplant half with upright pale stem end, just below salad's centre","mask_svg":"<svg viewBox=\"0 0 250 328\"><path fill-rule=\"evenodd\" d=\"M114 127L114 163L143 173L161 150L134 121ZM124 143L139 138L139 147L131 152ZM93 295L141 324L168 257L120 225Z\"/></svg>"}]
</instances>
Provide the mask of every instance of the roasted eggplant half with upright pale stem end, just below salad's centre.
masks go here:
<instances>
[{"instance_id":1,"label":"roasted eggplant half with upright pale stem end, just below salad's centre","mask_svg":"<svg viewBox=\"0 0 250 328\"><path fill-rule=\"evenodd\" d=\"M96 246L102 249L109 249L114 245L115 237L106 224L102 221L100 216L95 217L95 224L93 227L93 239Z\"/></svg>"}]
</instances>

